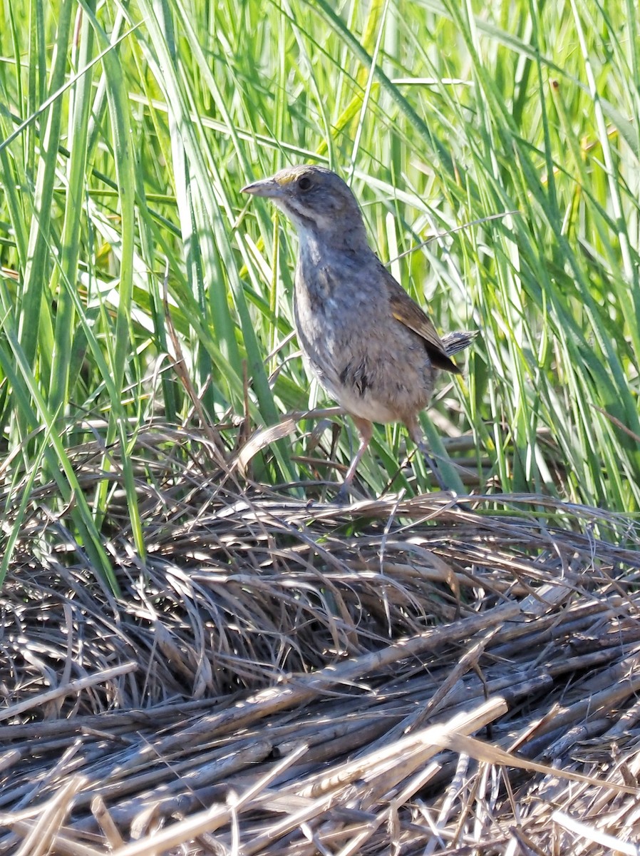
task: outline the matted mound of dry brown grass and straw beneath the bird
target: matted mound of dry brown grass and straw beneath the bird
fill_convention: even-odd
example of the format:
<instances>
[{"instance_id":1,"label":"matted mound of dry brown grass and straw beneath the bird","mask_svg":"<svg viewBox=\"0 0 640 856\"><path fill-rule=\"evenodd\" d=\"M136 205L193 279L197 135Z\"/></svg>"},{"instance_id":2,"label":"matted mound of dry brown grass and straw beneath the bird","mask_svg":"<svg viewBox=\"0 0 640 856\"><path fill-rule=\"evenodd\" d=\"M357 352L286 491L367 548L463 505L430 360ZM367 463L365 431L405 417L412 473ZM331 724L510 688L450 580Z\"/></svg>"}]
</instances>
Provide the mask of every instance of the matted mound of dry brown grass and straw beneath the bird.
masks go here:
<instances>
[{"instance_id":1,"label":"matted mound of dry brown grass and straw beneath the bird","mask_svg":"<svg viewBox=\"0 0 640 856\"><path fill-rule=\"evenodd\" d=\"M631 520L542 496L309 504L195 454L178 476L146 442L144 560L109 475L119 597L47 485L16 545L0 853L638 853ZM76 461L87 491L98 459Z\"/></svg>"}]
</instances>

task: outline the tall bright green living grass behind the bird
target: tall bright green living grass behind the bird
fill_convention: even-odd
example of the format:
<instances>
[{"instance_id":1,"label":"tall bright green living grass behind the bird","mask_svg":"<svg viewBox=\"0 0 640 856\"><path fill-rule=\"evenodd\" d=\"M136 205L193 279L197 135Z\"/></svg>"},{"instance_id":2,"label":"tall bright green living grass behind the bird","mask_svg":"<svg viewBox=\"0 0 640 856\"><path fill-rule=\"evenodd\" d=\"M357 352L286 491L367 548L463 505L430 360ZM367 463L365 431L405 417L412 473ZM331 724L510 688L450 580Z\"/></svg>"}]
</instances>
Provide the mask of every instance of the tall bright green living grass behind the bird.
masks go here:
<instances>
[{"instance_id":1,"label":"tall bright green living grass behind the bird","mask_svg":"<svg viewBox=\"0 0 640 856\"><path fill-rule=\"evenodd\" d=\"M305 409L310 394L323 401L290 359L293 230L240 195L286 163L314 161L352 181L382 259L439 329L481 330L464 379L443 379L424 416L436 452L442 433L469 432L482 484L489 475L502 490L637 510L631 2L0 9L8 507L28 513L21 490L41 461L108 573L100 523L116 444L144 554L127 452L152 416L180 422L193 407L172 368L171 325L210 422L246 415L252 430ZM90 431L104 437L105 481L85 499L68 449ZM229 448L235 436L223 434ZM369 490L429 489L418 463L415 480L398 472L404 437L377 429L360 470ZM342 432L342 463L349 443ZM254 474L308 478L302 453L300 436L274 444Z\"/></svg>"}]
</instances>

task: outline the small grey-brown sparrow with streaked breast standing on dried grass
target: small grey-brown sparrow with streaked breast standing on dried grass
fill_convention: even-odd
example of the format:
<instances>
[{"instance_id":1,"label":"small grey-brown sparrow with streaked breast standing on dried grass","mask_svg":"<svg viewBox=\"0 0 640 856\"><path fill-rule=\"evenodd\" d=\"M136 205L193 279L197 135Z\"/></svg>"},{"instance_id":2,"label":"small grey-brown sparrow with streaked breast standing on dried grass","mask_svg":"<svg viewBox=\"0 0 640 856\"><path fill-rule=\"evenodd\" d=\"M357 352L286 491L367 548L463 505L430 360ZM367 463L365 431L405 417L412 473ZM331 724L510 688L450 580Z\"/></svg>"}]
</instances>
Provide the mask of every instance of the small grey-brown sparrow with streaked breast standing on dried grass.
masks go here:
<instances>
[{"instance_id":1,"label":"small grey-brown sparrow with streaked breast standing on dried grass","mask_svg":"<svg viewBox=\"0 0 640 856\"><path fill-rule=\"evenodd\" d=\"M335 501L348 501L373 423L404 423L441 490L447 490L418 414L430 401L436 372L460 374L452 357L469 346L476 331L438 335L370 247L358 202L331 169L287 167L242 193L270 199L298 232L293 318L305 367L359 431L359 448Z\"/></svg>"}]
</instances>

